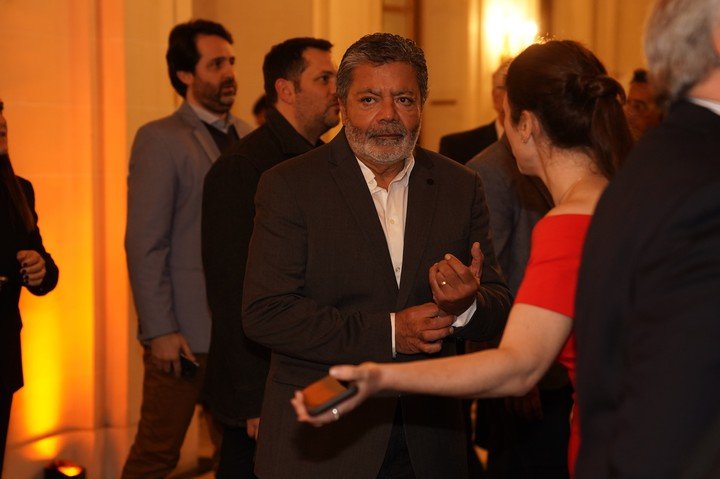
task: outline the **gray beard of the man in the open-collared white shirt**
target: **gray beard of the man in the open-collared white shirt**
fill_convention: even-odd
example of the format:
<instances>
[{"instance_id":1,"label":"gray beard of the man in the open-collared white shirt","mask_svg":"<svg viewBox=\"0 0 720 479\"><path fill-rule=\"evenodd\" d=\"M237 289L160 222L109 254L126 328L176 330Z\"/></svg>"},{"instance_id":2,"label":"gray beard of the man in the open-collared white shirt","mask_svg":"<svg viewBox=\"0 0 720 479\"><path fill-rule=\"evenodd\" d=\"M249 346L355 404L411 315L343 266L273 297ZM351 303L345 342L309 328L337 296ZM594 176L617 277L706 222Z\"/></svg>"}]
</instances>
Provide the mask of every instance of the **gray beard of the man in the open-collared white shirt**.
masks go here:
<instances>
[{"instance_id":1,"label":"gray beard of the man in the open-collared white shirt","mask_svg":"<svg viewBox=\"0 0 720 479\"><path fill-rule=\"evenodd\" d=\"M383 140L373 136L375 133L383 132L401 133L403 137L396 141ZM355 155L359 158L369 159L378 165L392 165L409 158L415 149L419 135L419 124L415 130L410 132L398 122L388 125L382 131L368 129L365 133L356 128L349 120L345 124L345 136Z\"/></svg>"}]
</instances>

